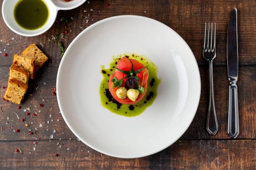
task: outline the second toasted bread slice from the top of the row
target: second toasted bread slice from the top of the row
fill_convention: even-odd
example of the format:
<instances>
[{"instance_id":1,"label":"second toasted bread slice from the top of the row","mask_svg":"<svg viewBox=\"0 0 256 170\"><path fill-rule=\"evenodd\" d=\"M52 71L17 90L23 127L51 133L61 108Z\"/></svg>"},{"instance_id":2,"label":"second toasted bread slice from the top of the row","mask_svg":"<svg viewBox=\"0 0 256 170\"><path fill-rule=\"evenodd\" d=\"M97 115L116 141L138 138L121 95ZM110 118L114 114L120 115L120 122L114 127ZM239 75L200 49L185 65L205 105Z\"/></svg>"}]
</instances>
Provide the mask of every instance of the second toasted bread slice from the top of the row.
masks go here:
<instances>
[{"instance_id":1,"label":"second toasted bread slice from the top of the row","mask_svg":"<svg viewBox=\"0 0 256 170\"><path fill-rule=\"evenodd\" d=\"M23 54L14 54L13 64L23 67L29 72L29 78L34 79L36 77L36 60L31 57L27 57Z\"/></svg>"}]
</instances>

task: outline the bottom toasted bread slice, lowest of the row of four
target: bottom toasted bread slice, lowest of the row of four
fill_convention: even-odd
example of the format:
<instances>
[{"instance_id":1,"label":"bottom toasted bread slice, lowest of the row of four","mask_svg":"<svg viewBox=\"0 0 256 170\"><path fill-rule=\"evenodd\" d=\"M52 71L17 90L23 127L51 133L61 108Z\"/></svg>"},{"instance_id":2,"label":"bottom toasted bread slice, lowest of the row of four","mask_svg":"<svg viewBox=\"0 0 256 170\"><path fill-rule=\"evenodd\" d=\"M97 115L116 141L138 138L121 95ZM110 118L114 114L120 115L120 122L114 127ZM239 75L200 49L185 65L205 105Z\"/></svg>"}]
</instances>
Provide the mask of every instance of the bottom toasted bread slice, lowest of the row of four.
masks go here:
<instances>
[{"instance_id":1,"label":"bottom toasted bread slice, lowest of the row of four","mask_svg":"<svg viewBox=\"0 0 256 170\"><path fill-rule=\"evenodd\" d=\"M8 87L3 99L20 104L25 96L28 86L18 79L9 79Z\"/></svg>"}]
</instances>

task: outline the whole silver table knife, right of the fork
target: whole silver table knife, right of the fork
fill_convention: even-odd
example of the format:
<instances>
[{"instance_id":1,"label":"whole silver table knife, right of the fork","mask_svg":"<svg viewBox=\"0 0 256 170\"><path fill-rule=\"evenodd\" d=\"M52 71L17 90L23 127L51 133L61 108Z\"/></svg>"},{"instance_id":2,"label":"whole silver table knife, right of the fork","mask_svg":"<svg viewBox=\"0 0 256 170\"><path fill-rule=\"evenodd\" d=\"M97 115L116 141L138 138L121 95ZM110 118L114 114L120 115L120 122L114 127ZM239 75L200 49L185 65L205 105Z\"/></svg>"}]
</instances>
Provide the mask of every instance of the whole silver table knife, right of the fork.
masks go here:
<instances>
[{"instance_id":1,"label":"whole silver table knife, right of the fork","mask_svg":"<svg viewBox=\"0 0 256 170\"><path fill-rule=\"evenodd\" d=\"M237 77L238 77L238 44L237 44L237 9L231 12L227 32L227 65L229 85L228 134L236 138L239 134Z\"/></svg>"}]
</instances>

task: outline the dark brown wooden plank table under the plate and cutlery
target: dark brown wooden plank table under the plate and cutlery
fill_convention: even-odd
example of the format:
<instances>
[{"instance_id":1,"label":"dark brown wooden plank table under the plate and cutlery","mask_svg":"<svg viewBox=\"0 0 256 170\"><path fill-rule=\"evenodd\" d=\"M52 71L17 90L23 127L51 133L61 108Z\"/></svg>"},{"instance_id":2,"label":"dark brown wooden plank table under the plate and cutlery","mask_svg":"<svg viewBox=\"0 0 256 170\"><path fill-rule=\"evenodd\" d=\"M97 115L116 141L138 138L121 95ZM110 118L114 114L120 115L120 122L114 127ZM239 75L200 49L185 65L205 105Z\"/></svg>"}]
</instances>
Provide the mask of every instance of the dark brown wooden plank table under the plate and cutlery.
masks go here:
<instances>
[{"instance_id":1,"label":"dark brown wooden plank table under the plate and cutlery","mask_svg":"<svg viewBox=\"0 0 256 170\"><path fill-rule=\"evenodd\" d=\"M0 0L2 4L3 0ZM109 6L107 5L109 4ZM238 102L240 134L227 134L228 85L226 61L227 25L231 10L238 10L239 79ZM80 7L59 11L56 22L46 33L24 37L13 33L0 17L0 95L7 86L13 54L36 43L50 61L29 82L27 95L20 104L0 101L1 170L165 170L223 169L252 170L256 167L256 1L255 0L87 0ZM91 24L117 15L151 17L174 29L195 54L201 76L201 97L196 116L188 130L165 150L137 159L121 159L89 148L70 131L59 113L56 77L61 61L53 37L67 48L71 41ZM206 131L209 97L208 65L202 57L205 22L217 23L217 58L214 61L215 104L219 123L217 135ZM4 56L7 53L7 56ZM43 103L43 107L40 104ZM26 110L30 109L30 115ZM17 113L19 119L17 118ZM37 116L34 116L37 113ZM74 113L75 114L75 113ZM26 119L29 127L21 119ZM12 127L12 130L9 129ZM33 135L29 135L29 128ZM13 130L20 129L20 132ZM22 153L16 152L16 149ZM55 156L58 153L59 156Z\"/></svg>"}]
</instances>

